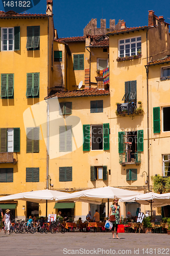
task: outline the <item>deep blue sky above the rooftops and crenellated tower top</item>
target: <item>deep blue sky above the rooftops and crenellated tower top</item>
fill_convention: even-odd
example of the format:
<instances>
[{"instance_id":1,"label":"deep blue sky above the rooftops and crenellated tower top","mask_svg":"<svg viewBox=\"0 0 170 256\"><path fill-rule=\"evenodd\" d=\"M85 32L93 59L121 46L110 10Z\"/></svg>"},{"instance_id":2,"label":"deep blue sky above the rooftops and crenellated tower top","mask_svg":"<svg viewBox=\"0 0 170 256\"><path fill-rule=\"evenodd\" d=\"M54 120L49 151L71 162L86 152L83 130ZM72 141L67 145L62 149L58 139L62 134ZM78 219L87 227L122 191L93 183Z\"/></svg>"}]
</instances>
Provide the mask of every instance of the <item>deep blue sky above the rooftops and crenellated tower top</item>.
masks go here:
<instances>
[{"instance_id":1,"label":"deep blue sky above the rooftops and crenellated tower top","mask_svg":"<svg viewBox=\"0 0 170 256\"><path fill-rule=\"evenodd\" d=\"M3 2L4 0L2 0ZM4 11L3 3L0 10ZM170 1L164 0L53 0L54 25L59 37L82 36L84 27L91 18L106 18L106 27L109 28L109 19L124 19L127 27L148 25L148 11L154 10L157 16L163 16L170 23ZM46 0L27 11L27 13L45 13Z\"/></svg>"}]
</instances>

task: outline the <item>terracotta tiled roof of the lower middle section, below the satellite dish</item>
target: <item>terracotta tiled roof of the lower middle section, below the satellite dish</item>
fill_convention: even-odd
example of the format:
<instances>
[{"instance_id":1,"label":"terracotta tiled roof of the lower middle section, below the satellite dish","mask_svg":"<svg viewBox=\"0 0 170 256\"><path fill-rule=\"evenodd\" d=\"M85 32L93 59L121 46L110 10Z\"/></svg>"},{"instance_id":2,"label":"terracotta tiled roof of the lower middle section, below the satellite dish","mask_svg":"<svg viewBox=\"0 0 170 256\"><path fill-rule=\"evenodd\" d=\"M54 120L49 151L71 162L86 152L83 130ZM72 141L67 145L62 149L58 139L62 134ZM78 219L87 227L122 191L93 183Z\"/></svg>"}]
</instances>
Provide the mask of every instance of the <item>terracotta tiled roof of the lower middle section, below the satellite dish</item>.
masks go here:
<instances>
[{"instance_id":1,"label":"terracotta tiled roof of the lower middle section, below the satellite dish","mask_svg":"<svg viewBox=\"0 0 170 256\"><path fill-rule=\"evenodd\" d=\"M110 95L109 90L99 90L97 88L83 89L83 90L73 90L57 92L51 96L45 97L45 99L50 99L54 97L58 98L74 98L74 97L88 97L88 96L103 96Z\"/></svg>"}]
</instances>

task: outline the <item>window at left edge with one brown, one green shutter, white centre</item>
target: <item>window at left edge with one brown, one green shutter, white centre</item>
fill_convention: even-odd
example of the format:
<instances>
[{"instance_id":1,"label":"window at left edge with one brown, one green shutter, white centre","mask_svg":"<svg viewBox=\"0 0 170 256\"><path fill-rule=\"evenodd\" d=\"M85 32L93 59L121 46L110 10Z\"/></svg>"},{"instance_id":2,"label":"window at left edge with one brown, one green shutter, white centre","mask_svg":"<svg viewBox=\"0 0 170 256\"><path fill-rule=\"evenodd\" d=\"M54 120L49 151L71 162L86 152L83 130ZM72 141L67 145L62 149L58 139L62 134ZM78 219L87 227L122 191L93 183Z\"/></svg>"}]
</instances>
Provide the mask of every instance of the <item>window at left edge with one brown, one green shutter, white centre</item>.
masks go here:
<instances>
[{"instance_id":1,"label":"window at left edge with one brown, one green shutter, white centre","mask_svg":"<svg viewBox=\"0 0 170 256\"><path fill-rule=\"evenodd\" d=\"M20 128L0 128L0 152L20 152Z\"/></svg>"}]
</instances>

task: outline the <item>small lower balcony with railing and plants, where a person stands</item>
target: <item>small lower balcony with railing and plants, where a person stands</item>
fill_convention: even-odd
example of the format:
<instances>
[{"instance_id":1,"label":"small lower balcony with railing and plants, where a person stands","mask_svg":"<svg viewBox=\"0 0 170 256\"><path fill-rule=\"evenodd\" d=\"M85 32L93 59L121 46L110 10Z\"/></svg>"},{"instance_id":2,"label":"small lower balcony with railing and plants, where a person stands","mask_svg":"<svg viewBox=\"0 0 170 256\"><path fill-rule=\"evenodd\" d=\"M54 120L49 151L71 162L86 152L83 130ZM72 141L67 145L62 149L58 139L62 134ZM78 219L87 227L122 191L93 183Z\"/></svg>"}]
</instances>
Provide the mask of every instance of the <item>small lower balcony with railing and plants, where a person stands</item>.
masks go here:
<instances>
[{"instance_id":1,"label":"small lower balcony with railing and plants, where a person stands","mask_svg":"<svg viewBox=\"0 0 170 256\"><path fill-rule=\"evenodd\" d=\"M139 165L141 163L141 153L135 152L132 154L132 157L129 159L127 158L126 153L119 153L119 164L122 164L122 166L126 166L127 164L136 164Z\"/></svg>"}]
</instances>

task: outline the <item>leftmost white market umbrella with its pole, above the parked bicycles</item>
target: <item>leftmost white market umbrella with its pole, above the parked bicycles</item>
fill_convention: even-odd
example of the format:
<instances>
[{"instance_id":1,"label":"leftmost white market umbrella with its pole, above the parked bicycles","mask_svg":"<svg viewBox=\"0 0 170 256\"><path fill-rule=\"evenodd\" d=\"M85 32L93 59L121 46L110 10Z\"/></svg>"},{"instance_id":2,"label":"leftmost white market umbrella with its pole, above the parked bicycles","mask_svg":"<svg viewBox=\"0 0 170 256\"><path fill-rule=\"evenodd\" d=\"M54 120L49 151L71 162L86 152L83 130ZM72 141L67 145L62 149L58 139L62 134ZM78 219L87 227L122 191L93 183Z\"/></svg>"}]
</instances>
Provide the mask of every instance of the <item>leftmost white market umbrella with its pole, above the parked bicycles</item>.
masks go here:
<instances>
[{"instance_id":1,"label":"leftmost white market umbrella with its pole, above the parked bicycles","mask_svg":"<svg viewBox=\"0 0 170 256\"><path fill-rule=\"evenodd\" d=\"M67 193L61 192L58 190L36 190L36 191L29 191L18 193L14 195L9 195L6 197L0 197L0 201L8 201L8 200L23 200L23 201L30 201L35 203L46 203L46 217L47 217L47 201L54 202L58 198L58 196L64 196Z\"/></svg>"}]
</instances>

